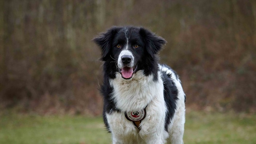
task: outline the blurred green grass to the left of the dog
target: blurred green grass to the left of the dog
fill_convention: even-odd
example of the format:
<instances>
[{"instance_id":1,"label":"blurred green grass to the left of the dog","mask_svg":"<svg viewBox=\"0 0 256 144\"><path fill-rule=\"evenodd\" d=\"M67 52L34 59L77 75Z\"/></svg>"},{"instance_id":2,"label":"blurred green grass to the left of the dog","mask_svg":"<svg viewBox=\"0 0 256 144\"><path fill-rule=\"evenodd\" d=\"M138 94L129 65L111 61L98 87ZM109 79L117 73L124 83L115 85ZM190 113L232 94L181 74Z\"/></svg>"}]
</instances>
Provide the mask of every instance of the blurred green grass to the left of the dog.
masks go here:
<instances>
[{"instance_id":1,"label":"blurred green grass to the left of the dog","mask_svg":"<svg viewBox=\"0 0 256 144\"><path fill-rule=\"evenodd\" d=\"M0 144L108 144L101 117L2 115Z\"/></svg>"}]
</instances>

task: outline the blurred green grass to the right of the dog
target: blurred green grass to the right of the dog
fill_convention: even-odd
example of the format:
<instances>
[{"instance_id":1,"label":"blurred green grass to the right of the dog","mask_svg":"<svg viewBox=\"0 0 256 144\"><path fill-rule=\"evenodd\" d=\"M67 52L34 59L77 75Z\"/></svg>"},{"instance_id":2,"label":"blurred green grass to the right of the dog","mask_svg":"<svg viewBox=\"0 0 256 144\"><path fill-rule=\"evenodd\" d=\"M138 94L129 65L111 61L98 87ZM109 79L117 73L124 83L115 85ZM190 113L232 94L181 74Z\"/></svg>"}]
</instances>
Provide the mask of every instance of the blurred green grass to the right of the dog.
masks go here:
<instances>
[{"instance_id":1,"label":"blurred green grass to the right of the dog","mask_svg":"<svg viewBox=\"0 0 256 144\"><path fill-rule=\"evenodd\" d=\"M187 113L184 142L189 144L256 144L256 115Z\"/></svg>"}]
</instances>

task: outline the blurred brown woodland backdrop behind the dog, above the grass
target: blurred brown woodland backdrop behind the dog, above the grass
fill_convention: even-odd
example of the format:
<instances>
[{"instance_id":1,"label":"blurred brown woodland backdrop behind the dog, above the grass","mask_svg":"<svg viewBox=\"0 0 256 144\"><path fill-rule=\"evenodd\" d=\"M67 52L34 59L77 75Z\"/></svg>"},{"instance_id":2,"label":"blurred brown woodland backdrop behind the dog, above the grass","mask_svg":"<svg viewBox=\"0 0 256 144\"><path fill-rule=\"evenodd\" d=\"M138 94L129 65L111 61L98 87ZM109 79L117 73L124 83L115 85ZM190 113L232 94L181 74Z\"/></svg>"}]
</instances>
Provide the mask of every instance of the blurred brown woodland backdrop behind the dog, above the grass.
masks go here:
<instances>
[{"instance_id":1,"label":"blurred brown woodland backdrop behind the dog, above the grass","mask_svg":"<svg viewBox=\"0 0 256 144\"><path fill-rule=\"evenodd\" d=\"M113 25L168 41L187 109L256 112L255 0L3 0L0 109L101 115L101 51L93 37Z\"/></svg>"}]
</instances>

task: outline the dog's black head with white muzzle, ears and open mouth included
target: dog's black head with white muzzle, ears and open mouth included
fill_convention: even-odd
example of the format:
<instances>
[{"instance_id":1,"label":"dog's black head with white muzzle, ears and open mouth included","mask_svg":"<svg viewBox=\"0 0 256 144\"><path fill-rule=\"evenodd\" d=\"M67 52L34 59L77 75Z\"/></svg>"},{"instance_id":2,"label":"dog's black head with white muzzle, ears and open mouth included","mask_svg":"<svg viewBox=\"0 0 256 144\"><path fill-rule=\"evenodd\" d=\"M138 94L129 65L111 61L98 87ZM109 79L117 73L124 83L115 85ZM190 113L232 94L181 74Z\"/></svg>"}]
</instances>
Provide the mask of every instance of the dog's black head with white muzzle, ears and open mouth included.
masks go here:
<instances>
[{"instance_id":1,"label":"dog's black head with white muzzle, ears and open mouth included","mask_svg":"<svg viewBox=\"0 0 256 144\"><path fill-rule=\"evenodd\" d=\"M112 27L93 41L102 49L101 60L112 63L123 79L131 79L141 69L150 71L149 65L166 43L147 29L129 26Z\"/></svg>"}]
</instances>

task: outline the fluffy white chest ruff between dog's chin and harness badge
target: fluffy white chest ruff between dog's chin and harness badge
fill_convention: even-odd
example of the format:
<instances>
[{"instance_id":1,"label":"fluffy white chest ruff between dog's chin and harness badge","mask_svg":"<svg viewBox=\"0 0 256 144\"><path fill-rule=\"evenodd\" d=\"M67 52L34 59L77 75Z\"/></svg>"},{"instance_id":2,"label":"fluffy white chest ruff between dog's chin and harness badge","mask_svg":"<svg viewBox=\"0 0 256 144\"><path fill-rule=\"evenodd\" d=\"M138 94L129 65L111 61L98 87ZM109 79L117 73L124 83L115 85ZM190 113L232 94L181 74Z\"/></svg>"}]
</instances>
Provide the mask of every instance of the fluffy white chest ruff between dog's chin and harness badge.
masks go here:
<instances>
[{"instance_id":1,"label":"fluffy white chest ruff between dog's chin and harness badge","mask_svg":"<svg viewBox=\"0 0 256 144\"><path fill-rule=\"evenodd\" d=\"M121 111L136 111L145 108L154 97L163 98L163 81L153 81L153 76L144 76L137 71L132 79L124 80L119 73L109 81L113 87L113 100ZM164 102L164 100L163 100Z\"/></svg>"}]
</instances>

